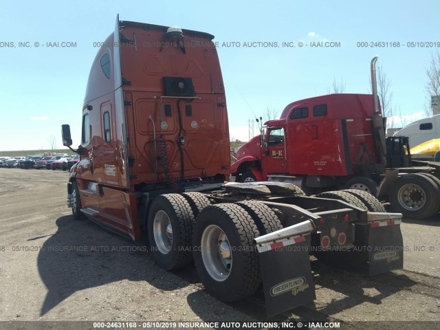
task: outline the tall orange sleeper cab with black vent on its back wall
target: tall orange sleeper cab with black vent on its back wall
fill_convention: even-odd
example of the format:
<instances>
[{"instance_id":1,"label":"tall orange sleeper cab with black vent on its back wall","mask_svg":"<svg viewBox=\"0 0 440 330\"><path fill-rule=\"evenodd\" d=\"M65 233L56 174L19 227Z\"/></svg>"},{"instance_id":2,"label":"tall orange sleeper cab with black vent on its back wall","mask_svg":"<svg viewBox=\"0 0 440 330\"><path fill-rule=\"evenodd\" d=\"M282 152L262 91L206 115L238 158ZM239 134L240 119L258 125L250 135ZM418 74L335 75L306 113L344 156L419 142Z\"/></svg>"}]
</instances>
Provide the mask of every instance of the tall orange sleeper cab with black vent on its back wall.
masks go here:
<instances>
[{"instance_id":1,"label":"tall orange sleeper cab with black vent on its back wall","mask_svg":"<svg viewBox=\"0 0 440 330\"><path fill-rule=\"evenodd\" d=\"M213 37L116 23L83 106L83 155L71 180L83 213L139 239L139 195L225 181L228 116Z\"/></svg>"}]
</instances>

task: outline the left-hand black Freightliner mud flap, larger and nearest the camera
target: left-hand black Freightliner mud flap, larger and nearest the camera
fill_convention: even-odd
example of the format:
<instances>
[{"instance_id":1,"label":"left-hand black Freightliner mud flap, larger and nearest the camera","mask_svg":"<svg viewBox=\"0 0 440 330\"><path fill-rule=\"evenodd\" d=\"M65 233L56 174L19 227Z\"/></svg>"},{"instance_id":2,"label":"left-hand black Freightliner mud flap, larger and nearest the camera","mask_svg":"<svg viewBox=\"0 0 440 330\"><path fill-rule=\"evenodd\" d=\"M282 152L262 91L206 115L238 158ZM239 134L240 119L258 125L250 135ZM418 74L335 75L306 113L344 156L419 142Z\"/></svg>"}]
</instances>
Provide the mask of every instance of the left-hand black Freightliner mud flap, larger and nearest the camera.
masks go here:
<instances>
[{"instance_id":1,"label":"left-hand black Freightliner mud flap, larger and nearest the camera","mask_svg":"<svg viewBox=\"0 0 440 330\"><path fill-rule=\"evenodd\" d=\"M259 248L261 278L267 317L275 316L316 299L311 274L310 235Z\"/></svg>"}]
</instances>

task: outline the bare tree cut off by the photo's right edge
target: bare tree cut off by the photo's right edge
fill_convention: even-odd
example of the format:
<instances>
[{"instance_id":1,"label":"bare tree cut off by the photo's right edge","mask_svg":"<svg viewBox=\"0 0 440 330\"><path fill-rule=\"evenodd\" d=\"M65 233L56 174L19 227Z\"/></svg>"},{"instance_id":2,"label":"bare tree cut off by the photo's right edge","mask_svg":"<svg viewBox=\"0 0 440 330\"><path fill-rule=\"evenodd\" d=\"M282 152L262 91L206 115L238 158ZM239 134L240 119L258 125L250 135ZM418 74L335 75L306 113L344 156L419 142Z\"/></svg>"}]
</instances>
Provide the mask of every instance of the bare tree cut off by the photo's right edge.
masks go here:
<instances>
[{"instance_id":1,"label":"bare tree cut off by the photo's right edge","mask_svg":"<svg viewBox=\"0 0 440 330\"><path fill-rule=\"evenodd\" d=\"M426 92L428 93L428 100L425 104L426 115L432 115L434 107L440 108L440 52L431 53L431 60L429 67L426 69L426 76L428 77L428 83L425 85ZM432 99L434 98L434 99ZM437 104L434 105L433 103ZM431 108L432 106L432 108Z\"/></svg>"}]
</instances>

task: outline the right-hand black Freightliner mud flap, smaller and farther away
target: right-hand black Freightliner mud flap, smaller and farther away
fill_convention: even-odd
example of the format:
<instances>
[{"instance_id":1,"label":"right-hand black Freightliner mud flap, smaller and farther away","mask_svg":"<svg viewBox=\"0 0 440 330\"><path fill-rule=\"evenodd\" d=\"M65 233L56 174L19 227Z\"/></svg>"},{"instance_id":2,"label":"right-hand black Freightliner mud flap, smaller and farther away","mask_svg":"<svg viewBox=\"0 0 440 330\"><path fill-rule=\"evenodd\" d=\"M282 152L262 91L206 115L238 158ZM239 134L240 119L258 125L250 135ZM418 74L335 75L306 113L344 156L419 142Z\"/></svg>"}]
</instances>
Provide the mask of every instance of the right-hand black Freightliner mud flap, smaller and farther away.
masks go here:
<instances>
[{"instance_id":1,"label":"right-hand black Freightliner mud flap, smaller and farther away","mask_svg":"<svg viewBox=\"0 0 440 330\"><path fill-rule=\"evenodd\" d=\"M374 225L375 223L369 224L369 274L381 274L403 268L404 243L399 223Z\"/></svg>"}]
</instances>

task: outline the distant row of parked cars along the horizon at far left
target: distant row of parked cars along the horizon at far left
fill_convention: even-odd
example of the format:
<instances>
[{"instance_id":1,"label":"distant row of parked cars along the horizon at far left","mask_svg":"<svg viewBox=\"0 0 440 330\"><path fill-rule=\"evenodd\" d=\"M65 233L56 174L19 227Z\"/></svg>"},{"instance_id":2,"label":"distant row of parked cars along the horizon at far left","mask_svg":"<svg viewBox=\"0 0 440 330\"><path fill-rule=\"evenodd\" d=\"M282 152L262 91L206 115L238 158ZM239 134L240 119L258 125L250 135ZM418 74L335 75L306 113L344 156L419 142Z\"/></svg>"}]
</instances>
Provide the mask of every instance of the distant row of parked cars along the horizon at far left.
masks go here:
<instances>
[{"instance_id":1,"label":"distant row of parked cars along the horizon at far left","mask_svg":"<svg viewBox=\"0 0 440 330\"><path fill-rule=\"evenodd\" d=\"M79 162L80 157L56 155L56 156L19 156L19 157L0 157L0 167L6 168L46 168L47 170L68 170Z\"/></svg>"}]
</instances>

